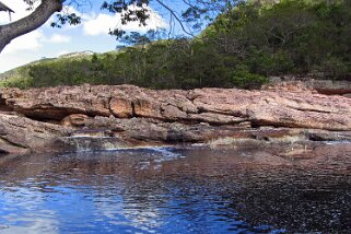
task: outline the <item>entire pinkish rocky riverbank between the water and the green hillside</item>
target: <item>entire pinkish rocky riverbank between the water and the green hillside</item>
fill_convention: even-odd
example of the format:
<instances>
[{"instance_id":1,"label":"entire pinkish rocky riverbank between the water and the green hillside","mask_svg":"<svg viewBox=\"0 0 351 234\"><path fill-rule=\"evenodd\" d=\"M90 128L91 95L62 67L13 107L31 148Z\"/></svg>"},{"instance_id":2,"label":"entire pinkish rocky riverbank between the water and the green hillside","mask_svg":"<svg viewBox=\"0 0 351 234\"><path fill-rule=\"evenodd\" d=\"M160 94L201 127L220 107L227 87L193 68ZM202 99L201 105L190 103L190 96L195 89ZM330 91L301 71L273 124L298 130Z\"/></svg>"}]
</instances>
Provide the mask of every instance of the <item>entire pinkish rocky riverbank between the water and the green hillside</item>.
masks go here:
<instances>
[{"instance_id":1,"label":"entire pinkish rocky riverbank between the water and the green hillside","mask_svg":"<svg viewBox=\"0 0 351 234\"><path fill-rule=\"evenodd\" d=\"M351 98L303 87L152 91L132 85L0 90L0 152L351 140ZM307 149L308 150L308 149ZM289 152L288 152L289 154ZM286 154L286 155L288 155Z\"/></svg>"}]
</instances>

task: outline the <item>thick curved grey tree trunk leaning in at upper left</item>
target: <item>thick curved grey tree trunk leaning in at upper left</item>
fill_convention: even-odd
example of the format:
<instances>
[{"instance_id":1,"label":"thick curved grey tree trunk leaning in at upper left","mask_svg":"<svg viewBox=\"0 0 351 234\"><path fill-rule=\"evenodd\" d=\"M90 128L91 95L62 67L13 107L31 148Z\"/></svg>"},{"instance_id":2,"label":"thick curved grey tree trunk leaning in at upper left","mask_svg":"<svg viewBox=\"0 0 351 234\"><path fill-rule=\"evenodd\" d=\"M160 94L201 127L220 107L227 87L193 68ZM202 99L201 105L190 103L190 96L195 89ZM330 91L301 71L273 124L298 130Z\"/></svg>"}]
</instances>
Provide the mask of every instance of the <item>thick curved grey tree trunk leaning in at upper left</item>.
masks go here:
<instances>
[{"instance_id":1,"label":"thick curved grey tree trunk leaning in at upper left","mask_svg":"<svg viewBox=\"0 0 351 234\"><path fill-rule=\"evenodd\" d=\"M28 16L10 24L1 25L0 52L12 39L38 28L45 24L55 12L61 10L61 0L42 0L42 3Z\"/></svg>"}]
</instances>

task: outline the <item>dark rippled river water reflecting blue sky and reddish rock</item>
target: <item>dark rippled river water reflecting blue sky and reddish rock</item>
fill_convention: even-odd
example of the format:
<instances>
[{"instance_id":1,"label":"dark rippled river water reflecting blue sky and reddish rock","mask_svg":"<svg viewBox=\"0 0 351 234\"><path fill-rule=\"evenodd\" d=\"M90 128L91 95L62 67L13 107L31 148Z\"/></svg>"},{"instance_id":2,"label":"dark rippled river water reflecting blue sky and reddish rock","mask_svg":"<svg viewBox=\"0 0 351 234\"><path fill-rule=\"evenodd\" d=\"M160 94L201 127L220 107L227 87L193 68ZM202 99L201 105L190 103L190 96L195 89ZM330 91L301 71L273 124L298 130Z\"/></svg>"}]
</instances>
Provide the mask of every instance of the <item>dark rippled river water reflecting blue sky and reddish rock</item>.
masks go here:
<instances>
[{"instance_id":1,"label":"dark rippled river water reflecting blue sky and reddish rock","mask_svg":"<svg viewBox=\"0 0 351 234\"><path fill-rule=\"evenodd\" d=\"M0 233L351 233L351 151L339 149L2 156Z\"/></svg>"}]
</instances>

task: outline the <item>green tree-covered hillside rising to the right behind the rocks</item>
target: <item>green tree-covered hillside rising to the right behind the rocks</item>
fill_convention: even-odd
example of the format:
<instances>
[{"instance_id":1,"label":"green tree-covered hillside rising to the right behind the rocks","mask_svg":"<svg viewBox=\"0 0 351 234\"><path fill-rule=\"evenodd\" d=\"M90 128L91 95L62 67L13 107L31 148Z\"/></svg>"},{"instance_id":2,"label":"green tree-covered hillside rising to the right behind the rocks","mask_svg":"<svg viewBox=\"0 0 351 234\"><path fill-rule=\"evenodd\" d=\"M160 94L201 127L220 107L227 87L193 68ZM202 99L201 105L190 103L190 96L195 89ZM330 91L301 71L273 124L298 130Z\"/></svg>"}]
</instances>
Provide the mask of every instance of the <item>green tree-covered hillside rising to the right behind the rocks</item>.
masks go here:
<instances>
[{"instance_id":1,"label":"green tree-covered hillside rising to the right behind the rocks","mask_svg":"<svg viewBox=\"0 0 351 234\"><path fill-rule=\"evenodd\" d=\"M268 1L269 2L269 1ZM351 78L351 1L242 3L195 39L46 60L3 86L136 84L152 89L259 87L269 75Z\"/></svg>"}]
</instances>

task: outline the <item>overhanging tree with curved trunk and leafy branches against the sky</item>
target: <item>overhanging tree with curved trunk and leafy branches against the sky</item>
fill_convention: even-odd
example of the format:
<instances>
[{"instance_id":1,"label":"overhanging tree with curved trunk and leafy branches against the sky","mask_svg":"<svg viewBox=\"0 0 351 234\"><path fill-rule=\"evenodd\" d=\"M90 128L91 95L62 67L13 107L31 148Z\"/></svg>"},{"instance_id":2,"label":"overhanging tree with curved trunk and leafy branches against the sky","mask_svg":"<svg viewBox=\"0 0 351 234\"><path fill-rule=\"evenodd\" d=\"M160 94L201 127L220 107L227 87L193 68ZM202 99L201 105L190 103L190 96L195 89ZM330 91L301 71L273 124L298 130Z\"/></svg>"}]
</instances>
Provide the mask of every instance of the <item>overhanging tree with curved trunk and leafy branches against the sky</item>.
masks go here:
<instances>
[{"instance_id":1,"label":"overhanging tree with curved trunk and leafy branches against the sky","mask_svg":"<svg viewBox=\"0 0 351 234\"><path fill-rule=\"evenodd\" d=\"M34 9L35 3L38 7L26 17L19 21L0 25L0 52L2 49L14 38L30 33L44 23L50 16L57 13L57 22L51 23L51 26L60 27L62 24L79 24L81 23L80 16L74 13L65 13L63 9L68 5L86 4L89 0L23 0L28 4L28 9ZM165 3L163 0L113 0L110 2L102 2L102 9L112 13L121 13L121 23L138 21L140 25L145 25L149 19L150 8L148 5L154 2L166 11L169 12L169 22L178 22L183 31L187 34L191 32L185 26L185 23L192 23L195 27L199 27L201 20L210 21L219 12L225 9L231 9L236 1L239 0L182 0L187 9L183 13L177 12L171 4ZM136 8L129 8L136 5ZM124 31L115 28L110 31L112 35L120 37L125 34Z\"/></svg>"}]
</instances>

